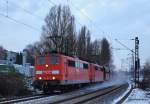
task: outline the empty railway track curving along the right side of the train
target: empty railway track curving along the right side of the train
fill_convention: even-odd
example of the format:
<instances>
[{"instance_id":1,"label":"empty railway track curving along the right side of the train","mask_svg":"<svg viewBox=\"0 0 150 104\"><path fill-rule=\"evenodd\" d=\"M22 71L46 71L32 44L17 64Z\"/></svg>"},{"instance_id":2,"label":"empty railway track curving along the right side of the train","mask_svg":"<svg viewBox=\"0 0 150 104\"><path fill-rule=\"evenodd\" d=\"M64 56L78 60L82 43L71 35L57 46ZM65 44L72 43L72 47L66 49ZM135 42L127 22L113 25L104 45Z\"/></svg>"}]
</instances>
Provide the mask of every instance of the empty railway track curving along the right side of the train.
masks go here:
<instances>
[{"instance_id":1,"label":"empty railway track curving along the right side of the train","mask_svg":"<svg viewBox=\"0 0 150 104\"><path fill-rule=\"evenodd\" d=\"M107 88L99 89L93 92L81 94L78 96L62 99L62 100L57 100L53 102L49 102L49 104L83 104L86 103L90 100L103 97L109 93L112 93L115 90L118 90L120 88L123 88L127 84L119 85L119 86L110 86Z\"/></svg>"}]
</instances>

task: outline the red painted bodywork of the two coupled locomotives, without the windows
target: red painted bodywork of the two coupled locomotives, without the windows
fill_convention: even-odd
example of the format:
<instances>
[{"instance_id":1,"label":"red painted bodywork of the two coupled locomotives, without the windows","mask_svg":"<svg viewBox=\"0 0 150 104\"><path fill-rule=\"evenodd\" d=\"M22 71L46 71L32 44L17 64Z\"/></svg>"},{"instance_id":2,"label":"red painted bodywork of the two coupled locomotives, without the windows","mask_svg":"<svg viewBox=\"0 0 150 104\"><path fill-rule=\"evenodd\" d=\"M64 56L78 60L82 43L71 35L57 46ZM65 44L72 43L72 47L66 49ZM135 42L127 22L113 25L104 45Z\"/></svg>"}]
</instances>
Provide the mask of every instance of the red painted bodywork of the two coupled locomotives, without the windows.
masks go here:
<instances>
[{"instance_id":1,"label":"red painted bodywork of the two coupled locomotives, without the windows","mask_svg":"<svg viewBox=\"0 0 150 104\"><path fill-rule=\"evenodd\" d=\"M48 60L49 57L51 57L50 54L45 55L45 64L39 65L37 63L38 56L35 60L35 71L41 70L43 71L43 74L36 74L35 73L35 80L39 80L39 77L41 77L41 80L53 80L52 77L55 77L55 80L68 80L68 81L82 81L79 83L83 83L83 81L87 82L100 82L104 81L104 72L101 70L95 70L95 66L100 67L99 65L88 63L86 61L79 60L78 58L73 58L69 56L64 56L57 54L59 57L59 63L58 64L49 64ZM72 61L79 61L81 63L88 64L88 69L80 69L75 67L69 67L67 60ZM48 67L46 67L46 64ZM60 71L58 75L53 75L51 71L53 69L57 69Z\"/></svg>"}]
</instances>

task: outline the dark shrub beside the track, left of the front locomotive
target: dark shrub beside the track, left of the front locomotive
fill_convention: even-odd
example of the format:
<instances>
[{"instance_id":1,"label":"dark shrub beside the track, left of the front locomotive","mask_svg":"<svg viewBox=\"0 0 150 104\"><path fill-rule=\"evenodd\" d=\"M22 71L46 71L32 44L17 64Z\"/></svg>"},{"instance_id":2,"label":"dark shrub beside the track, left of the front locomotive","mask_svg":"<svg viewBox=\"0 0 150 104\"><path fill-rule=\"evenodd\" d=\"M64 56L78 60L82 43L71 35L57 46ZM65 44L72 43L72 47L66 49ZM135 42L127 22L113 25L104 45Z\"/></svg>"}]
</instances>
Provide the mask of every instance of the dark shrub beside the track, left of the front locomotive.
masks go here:
<instances>
[{"instance_id":1,"label":"dark shrub beside the track, left of the front locomotive","mask_svg":"<svg viewBox=\"0 0 150 104\"><path fill-rule=\"evenodd\" d=\"M22 96L30 92L24 84L24 77L18 73L0 73L0 95Z\"/></svg>"}]
</instances>

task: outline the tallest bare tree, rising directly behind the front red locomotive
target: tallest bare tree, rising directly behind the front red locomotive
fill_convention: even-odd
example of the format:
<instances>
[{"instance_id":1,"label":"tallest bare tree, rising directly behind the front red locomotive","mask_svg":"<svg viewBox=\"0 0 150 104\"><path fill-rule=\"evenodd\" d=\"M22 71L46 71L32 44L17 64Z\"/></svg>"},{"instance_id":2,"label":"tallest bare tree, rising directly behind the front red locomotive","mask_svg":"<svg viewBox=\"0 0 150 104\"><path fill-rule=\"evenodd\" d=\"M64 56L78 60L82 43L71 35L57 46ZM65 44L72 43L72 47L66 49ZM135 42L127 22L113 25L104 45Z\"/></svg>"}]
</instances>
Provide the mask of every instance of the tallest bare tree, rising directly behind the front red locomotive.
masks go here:
<instances>
[{"instance_id":1,"label":"tallest bare tree, rising directly behind the front red locomotive","mask_svg":"<svg viewBox=\"0 0 150 104\"><path fill-rule=\"evenodd\" d=\"M41 36L42 42L49 47L49 51L55 47L58 52L65 52L65 40L69 40L70 35L75 35L74 16L70 8L61 5L52 7L45 18L45 23Z\"/></svg>"}]
</instances>

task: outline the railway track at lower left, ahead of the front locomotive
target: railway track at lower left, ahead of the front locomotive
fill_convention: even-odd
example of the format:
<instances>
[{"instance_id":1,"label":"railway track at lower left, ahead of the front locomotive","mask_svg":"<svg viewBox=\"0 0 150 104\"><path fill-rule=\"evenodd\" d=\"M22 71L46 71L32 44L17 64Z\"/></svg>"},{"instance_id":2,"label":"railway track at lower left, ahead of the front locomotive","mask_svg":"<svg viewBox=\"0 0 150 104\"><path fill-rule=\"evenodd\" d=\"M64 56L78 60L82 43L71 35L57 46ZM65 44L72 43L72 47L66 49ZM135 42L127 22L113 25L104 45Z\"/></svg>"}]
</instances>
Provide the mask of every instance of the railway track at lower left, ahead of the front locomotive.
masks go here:
<instances>
[{"instance_id":1,"label":"railway track at lower left, ahead of the front locomotive","mask_svg":"<svg viewBox=\"0 0 150 104\"><path fill-rule=\"evenodd\" d=\"M39 94L39 95L34 95L34 96L28 96L28 97L20 97L20 98L13 98L13 99L5 99L1 100L0 104L12 104L12 103L18 103L18 102L23 102L27 100L33 100L33 99L39 99L43 97L47 97L48 95L44 94Z\"/></svg>"}]
</instances>

